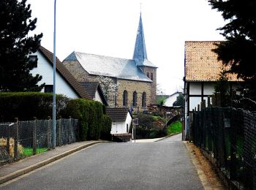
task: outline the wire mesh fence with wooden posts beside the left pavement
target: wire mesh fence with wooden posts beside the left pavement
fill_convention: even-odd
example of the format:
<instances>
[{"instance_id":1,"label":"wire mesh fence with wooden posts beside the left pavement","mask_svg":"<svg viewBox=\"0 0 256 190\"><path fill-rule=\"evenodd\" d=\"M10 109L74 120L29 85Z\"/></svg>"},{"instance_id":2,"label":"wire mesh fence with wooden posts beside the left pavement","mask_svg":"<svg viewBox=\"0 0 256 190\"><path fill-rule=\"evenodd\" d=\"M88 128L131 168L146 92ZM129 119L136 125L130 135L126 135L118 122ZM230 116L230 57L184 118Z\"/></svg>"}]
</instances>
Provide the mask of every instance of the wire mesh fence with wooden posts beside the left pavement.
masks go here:
<instances>
[{"instance_id":1,"label":"wire mesh fence with wooden posts beside the left pavement","mask_svg":"<svg viewBox=\"0 0 256 190\"><path fill-rule=\"evenodd\" d=\"M52 148L53 121L18 121L0 123L0 165L26 156L42 153ZM78 120L56 120L56 145L66 145L78 140Z\"/></svg>"}]
</instances>

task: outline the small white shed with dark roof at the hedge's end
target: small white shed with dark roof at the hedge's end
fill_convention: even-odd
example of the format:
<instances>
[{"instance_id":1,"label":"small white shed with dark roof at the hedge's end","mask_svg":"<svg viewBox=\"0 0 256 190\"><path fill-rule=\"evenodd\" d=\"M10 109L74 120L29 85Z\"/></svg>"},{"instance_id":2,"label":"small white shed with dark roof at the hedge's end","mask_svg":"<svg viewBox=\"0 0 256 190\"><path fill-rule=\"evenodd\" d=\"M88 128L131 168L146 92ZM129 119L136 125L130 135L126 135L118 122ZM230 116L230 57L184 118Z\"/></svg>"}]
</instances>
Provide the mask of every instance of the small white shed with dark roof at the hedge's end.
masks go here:
<instances>
[{"instance_id":1,"label":"small white shed with dark roof at the hedge's end","mask_svg":"<svg viewBox=\"0 0 256 190\"><path fill-rule=\"evenodd\" d=\"M107 107L106 113L112 119L110 134L116 137L132 137L132 134L129 133L129 128L132 124L132 114L128 108Z\"/></svg>"}]
</instances>

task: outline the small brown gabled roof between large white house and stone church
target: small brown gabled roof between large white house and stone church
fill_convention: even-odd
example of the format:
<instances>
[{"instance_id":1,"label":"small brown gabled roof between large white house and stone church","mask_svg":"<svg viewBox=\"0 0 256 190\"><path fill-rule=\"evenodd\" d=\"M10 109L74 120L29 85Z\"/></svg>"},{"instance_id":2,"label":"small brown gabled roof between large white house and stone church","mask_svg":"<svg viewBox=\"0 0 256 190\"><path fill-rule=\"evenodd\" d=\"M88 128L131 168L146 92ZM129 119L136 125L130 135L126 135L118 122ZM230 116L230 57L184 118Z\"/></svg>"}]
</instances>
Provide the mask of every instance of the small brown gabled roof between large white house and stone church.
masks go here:
<instances>
[{"instance_id":1,"label":"small brown gabled roof between large white house and stone church","mask_svg":"<svg viewBox=\"0 0 256 190\"><path fill-rule=\"evenodd\" d=\"M102 88L99 85L99 82L79 82L80 86L83 86L83 88L86 90L86 92L89 94L91 99L94 99L94 96L96 94L96 91L99 91L99 96L102 99L102 103L105 105L108 105L108 102L105 99L105 96L103 94Z\"/></svg>"}]
</instances>

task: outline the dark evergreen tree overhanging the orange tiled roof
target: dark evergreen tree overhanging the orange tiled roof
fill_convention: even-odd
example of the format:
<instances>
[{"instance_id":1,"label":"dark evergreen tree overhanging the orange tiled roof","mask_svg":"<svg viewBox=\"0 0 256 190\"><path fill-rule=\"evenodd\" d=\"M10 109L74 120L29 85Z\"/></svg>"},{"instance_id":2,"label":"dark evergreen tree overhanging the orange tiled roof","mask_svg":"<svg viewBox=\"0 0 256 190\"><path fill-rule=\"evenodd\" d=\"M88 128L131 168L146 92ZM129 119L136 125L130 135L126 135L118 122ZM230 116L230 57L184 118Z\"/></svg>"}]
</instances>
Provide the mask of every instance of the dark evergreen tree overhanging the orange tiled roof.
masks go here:
<instances>
[{"instance_id":1,"label":"dark evergreen tree overhanging the orange tiled roof","mask_svg":"<svg viewBox=\"0 0 256 190\"><path fill-rule=\"evenodd\" d=\"M219 60L230 65L227 72L236 73L245 80L244 88L255 99L256 85L256 1L208 0L213 9L222 12L228 22L218 28L225 37L214 50Z\"/></svg>"}]
</instances>

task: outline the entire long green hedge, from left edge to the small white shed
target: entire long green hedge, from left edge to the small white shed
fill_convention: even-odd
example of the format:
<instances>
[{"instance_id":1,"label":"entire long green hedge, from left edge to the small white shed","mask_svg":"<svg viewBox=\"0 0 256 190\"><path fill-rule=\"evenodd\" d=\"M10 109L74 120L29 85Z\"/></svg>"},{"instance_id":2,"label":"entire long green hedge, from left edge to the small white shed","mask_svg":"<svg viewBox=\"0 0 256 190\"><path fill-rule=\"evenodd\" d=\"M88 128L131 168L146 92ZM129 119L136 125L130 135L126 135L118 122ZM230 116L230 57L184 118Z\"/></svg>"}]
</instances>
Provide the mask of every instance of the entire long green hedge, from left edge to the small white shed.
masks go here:
<instances>
[{"instance_id":1,"label":"entire long green hedge, from left edge to the small white shed","mask_svg":"<svg viewBox=\"0 0 256 190\"><path fill-rule=\"evenodd\" d=\"M52 115L53 94L39 92L0 93L0 122L45 119ZM105 106L86 99L56 95L56 118L78 118L80 140L110 140L111 119Z\"/></svg>"}]
</instances>

